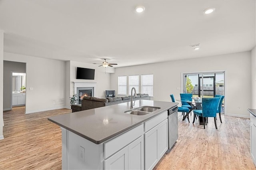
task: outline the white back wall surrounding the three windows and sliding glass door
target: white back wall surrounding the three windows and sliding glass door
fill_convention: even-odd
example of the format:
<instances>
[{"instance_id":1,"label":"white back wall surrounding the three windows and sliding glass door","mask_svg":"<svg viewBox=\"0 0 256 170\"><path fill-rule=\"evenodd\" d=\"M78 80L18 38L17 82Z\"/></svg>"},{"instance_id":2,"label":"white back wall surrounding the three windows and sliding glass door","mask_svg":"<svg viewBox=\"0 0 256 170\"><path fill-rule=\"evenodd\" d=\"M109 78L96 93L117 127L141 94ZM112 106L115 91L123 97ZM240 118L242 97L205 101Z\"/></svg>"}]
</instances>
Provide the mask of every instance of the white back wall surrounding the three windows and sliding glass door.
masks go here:
<instances>
[{"instance_id":1,"label":"white back wall surrounding the three windows and sliding glass door","mask_svg":"<svg viewBox=\"0 0 256 170\"><path fill-rule=\"evenodd\" d=\"M118 89L118 76L154 74L154 100L170 101L170 94L179 98L181 74L199 71L226 71L225 106L227 115L249 117L251 106L251 61L250 51L202 57L195 59L168 61L146 65L116 68L111 74L111 88ZM181 88L182 89L182 88ZM240 107L240 109L238 109Z\"/></svg>"}]
</instances>

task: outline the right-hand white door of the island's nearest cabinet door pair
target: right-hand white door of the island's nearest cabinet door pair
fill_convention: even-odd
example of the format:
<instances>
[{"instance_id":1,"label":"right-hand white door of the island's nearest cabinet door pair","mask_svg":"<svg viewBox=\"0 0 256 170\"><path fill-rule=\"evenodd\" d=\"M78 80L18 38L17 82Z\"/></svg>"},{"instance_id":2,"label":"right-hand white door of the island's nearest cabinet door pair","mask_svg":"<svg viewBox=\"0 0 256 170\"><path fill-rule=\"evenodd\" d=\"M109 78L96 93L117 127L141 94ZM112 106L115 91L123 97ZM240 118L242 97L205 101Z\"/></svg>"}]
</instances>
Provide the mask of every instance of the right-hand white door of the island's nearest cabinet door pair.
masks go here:
<instances>
[{"instance_id":1,"label":"right-hand white door of the island's nearest cabinet door pair","mask_svg":"<svg viewBox=\"0 0 256 170\"><path fill-rule=\"evenodd\" d=\"M144 170L144 136L128 146L128 169Z\"/></svg>"}]
</instances>

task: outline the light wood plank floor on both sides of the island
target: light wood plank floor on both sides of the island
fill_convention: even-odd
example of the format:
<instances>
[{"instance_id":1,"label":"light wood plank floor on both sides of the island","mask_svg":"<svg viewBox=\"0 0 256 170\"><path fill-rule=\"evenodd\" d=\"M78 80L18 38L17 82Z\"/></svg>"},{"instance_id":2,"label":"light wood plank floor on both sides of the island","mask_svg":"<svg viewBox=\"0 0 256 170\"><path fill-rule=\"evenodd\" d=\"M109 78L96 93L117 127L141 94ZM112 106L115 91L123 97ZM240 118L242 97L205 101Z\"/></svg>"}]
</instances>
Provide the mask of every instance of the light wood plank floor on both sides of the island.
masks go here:
<instances>
[{"instance_id":1,"label":"light wood plank floor on both sides of the island","mask_svg":"<svg viewBox=\"0 0 256 170\"><path fill-rule=\"evenodd\" d=\"M61 130L47 117L70 110L24 113L24 107L4 111L0 170L61 169ZM198 121L182 121L179 113L178 142L154 169L256 169L250 158L250 120L223 115L222 122L217 121L216 130L209 118L204 129Z\"/></svg>"}]
</instances>

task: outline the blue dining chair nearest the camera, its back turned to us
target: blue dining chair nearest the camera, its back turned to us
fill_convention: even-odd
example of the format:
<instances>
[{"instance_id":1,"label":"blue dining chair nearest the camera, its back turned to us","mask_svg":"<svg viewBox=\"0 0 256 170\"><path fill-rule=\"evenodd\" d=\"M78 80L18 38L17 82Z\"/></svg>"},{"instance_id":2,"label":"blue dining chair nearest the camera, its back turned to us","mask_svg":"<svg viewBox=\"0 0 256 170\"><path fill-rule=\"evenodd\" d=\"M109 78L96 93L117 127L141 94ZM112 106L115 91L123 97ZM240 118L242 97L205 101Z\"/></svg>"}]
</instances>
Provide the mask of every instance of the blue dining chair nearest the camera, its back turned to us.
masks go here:
<instances>
[{"instance_id":1,"label":"blue dining chair nearest the camera, its back turned to us","mask_svg":"<svg viewBox=\"0 0 256 170\"><path fill-rule=\"evenodd\" d=\"M202 110L194 110L194 114L203 117L203 124L204 124L205 117L206 118L214 117L215 128L218 129L217 123L216 123L216 115L217 115L216 110L217 110L219 101L220 101L220 98L218 97L202 98ZM204 128L205 128L205 125L204 125Z\"/></svg>"}]
</instances>

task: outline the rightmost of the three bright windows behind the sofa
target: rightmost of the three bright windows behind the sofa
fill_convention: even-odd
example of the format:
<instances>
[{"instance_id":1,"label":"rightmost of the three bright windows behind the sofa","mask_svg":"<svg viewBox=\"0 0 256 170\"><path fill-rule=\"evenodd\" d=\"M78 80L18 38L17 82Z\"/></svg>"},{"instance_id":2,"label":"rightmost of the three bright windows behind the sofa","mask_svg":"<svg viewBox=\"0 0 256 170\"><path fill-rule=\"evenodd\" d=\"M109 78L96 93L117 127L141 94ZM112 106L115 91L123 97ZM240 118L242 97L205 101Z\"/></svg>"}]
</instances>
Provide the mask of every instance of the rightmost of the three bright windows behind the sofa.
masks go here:
<instances>
[{"instance_id":1,"label":"rightmost of the three bright windows behind the sofa","mask_svg":"<svg viewBox=\"0 0 256 170\"><path fill-rule=\"evenodd\" d=\"M146 93L149 96L153 96L154 90L154 78L152 74L141 75L141 93Z\"/></svg>"}]
</instances>

